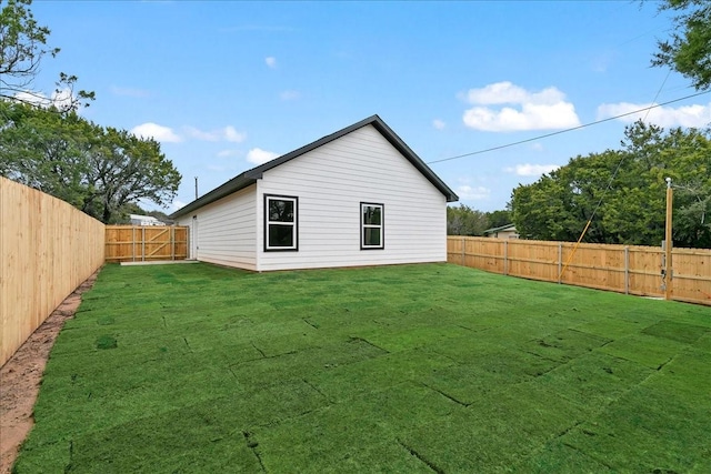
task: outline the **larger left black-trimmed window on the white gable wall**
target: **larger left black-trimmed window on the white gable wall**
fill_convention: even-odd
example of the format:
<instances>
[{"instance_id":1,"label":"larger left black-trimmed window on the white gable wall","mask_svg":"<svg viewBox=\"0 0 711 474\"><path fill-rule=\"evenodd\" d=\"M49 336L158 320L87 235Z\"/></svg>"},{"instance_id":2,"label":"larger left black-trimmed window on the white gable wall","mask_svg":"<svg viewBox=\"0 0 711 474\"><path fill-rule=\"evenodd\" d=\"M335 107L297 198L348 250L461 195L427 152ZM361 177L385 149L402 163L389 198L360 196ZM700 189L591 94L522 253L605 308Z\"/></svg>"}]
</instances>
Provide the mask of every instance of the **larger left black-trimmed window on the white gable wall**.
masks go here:
<instances>
[{"instance_id":1,"label":"larger left black-trimmed window on the white gable wall","mask_svg":"<svg viewBox=\"0 0 711 474\"><path fill-rule=\"evenodd\" d=\"M264 194L264 251L299 250L299 198Z\"/></svg>"}]
</instances>

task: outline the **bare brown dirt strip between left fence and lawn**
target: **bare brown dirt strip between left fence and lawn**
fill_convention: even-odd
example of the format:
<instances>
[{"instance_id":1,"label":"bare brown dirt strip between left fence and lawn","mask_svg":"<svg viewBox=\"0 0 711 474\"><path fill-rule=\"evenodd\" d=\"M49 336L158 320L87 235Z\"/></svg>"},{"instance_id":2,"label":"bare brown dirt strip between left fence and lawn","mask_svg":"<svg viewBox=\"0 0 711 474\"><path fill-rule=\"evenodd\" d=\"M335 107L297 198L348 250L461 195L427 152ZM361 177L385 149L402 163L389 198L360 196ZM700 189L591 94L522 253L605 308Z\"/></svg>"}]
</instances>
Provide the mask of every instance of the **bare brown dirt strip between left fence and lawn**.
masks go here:
<instances>
[{"instance_id":1,"label":"bare brown dirt strip between left fence and lawn","mask_svg":"<svg viewBox=\"0 0 711 474\"><path fill-rule=\"evenodd\" d=\"M32 428L32 407L40 390L47 359L64 322L72 317L81 295L99 272L73 291L0 367L0 474L10 474L18 450Z\"/></svg>"}]
</instances>

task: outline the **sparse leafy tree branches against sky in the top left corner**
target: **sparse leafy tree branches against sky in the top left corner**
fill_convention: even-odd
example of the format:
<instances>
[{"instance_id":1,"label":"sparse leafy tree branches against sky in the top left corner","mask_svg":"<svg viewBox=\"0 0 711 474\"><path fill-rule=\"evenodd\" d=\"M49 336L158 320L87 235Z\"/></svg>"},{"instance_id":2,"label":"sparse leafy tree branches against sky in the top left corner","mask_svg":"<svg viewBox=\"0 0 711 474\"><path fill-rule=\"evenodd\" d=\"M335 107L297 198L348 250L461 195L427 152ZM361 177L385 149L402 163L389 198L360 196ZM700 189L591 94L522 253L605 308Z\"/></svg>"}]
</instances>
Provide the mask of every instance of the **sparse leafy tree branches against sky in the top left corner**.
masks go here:
<instances>
[{"instance_id":1,"label":"sparse leafy tree branches against sky in the top left corner","mask_svg":"<svg viewBox=\"0 0 711 474\"><path fill-rule=\"evenodd\" d=\"M8 0L0 4L0 99L29 103L48 103L47 98L32 88L42 59L56 57L59 48L47 46L48 27L40 26L30 4L32 0ZM73 110L80 102L93 100L93 92L80 90L74 94L77 77L60 73L56 92L69 91L62 101L62 110Z\"/></svg>"}]
</instances>

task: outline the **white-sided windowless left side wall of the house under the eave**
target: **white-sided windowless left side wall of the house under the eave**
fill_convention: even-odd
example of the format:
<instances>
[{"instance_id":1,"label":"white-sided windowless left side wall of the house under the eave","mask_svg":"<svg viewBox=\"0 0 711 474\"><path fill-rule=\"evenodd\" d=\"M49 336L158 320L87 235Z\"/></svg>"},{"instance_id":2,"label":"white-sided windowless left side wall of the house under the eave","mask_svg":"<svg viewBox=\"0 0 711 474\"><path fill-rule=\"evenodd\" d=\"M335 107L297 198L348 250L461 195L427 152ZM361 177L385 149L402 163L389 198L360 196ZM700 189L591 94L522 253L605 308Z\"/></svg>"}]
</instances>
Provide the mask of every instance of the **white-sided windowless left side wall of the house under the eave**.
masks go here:
<instances>
[{"instance_id":1,"label":"white-sided windowless left side wall of the house under the eave","mask_svg":"<svg viewBox=\"0 0 711 474\"><path fill-rule=\"evenodd\" d=\"M202 262L257 270L257 185L222 198L183 216L180 225L193 225L197 215L197 254ZM193 232L191 232L191 235ZM194 249L194 245L191 245Z\"/></svg>"}]
</instances>

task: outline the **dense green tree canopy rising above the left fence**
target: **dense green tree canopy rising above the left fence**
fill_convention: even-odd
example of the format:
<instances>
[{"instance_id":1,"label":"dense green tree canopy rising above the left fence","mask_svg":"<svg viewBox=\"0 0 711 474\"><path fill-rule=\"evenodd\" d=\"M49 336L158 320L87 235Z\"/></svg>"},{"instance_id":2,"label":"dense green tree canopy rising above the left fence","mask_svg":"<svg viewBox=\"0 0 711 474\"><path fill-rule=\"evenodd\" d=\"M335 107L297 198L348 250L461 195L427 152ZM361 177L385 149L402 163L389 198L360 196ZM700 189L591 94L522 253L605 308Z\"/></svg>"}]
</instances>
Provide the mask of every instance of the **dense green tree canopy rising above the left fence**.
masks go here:
<instances>
[{"instance_id":1,"label":"dense green tree canopy rising above the left fence","mask_svg":"<svg viewBox=\"0 0 711 474\"><path fill-rule=\"evenodd\" d=\"M170 202L181 179L152 139L21 102L0 101L0 175L104 223L139 200Z\"/></svg>"}]
</instances>

